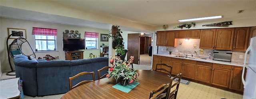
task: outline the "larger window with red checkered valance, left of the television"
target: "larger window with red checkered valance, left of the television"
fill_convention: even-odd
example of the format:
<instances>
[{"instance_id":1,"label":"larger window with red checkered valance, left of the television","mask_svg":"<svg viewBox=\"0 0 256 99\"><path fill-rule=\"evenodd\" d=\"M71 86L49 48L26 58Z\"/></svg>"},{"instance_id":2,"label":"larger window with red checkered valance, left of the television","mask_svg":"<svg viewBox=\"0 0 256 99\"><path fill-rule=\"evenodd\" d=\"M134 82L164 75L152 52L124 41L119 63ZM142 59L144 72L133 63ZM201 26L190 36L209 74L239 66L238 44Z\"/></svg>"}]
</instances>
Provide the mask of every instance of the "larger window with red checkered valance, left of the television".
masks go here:
<instances>
[{"instance_id":1,"label":"larger window with red checkered valance, left of the television","mask_svg":"<svg viewBox=\"0 0 256 99\"><path fill-rule=\"evenodd\" d=\"M36 51L56 50L57 29L33 27Z\"/></svg>"}]
</instances>

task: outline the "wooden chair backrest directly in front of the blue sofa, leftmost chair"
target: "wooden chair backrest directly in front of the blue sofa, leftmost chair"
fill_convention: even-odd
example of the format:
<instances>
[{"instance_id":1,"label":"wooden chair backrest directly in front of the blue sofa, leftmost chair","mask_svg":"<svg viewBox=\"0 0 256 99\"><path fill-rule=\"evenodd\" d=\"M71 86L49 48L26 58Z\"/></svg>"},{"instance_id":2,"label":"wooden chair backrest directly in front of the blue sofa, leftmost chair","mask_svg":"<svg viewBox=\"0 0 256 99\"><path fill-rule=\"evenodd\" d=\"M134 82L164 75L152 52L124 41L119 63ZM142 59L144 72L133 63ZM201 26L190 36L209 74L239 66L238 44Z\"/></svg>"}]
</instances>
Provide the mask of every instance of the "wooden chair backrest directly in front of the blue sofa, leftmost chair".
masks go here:
<instances>
[{"instance_id":1,"label":"wooden chair backrest directly in front of the blue sofa, leftmost chair","mask_svg":"<svg viewBox=\"0 0 256 99\"><path fill-rule=\"evenodd\" d=\"M75 79L75 78L77 78L79 76L87 75L87 74L91 74L92 75L92 80L84 80L84 81L79 82L76 85L72 86L72 80L73 79ZM75 76L69 78L69 90L72 90L72 89L78 87L79 85L82 85L82 84L88 83L88 82L92 82L92 81L95 81L94 72L80 72L79 74L76 74Z\"/></svg>"}]
</instances>

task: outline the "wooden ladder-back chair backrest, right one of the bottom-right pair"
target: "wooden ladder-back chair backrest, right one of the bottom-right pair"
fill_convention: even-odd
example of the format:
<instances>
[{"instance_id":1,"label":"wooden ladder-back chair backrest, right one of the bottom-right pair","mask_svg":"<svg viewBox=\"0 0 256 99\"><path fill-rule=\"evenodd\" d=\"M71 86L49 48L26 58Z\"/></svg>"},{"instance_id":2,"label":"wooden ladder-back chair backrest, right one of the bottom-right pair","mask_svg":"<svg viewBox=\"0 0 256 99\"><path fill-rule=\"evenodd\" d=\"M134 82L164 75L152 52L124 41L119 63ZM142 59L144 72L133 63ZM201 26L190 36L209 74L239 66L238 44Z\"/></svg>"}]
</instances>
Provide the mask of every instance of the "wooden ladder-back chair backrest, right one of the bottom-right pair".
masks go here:
<instances>
[{"instance_id":1,"label":"wooden ladder-back chair backrest, right one of the bottom-right pair","mask_svg":"<svg viewBox=\"0 0 256 99\"><path fill-rule=\"evenodd\" d=\"M168 97L169 97L169 98L167 98L167 99L176 99L176 98L177 98L177 93L178 93L178 89L179 89L179 85L180 85L181 76L182 76L182 74L180 73L180 74L177 74L177 75L174 76L174 77L171 77L170 86L169 86L169 91L168 91L168 93L170 93L170 94L168 94ZM178 82L172 84L172 81L173 81L175 78L179 78L179 79L178 79ZM172 89L172 88L175 87L175 86L176 86L176 89Z\"/></svg>"}]
</instances>

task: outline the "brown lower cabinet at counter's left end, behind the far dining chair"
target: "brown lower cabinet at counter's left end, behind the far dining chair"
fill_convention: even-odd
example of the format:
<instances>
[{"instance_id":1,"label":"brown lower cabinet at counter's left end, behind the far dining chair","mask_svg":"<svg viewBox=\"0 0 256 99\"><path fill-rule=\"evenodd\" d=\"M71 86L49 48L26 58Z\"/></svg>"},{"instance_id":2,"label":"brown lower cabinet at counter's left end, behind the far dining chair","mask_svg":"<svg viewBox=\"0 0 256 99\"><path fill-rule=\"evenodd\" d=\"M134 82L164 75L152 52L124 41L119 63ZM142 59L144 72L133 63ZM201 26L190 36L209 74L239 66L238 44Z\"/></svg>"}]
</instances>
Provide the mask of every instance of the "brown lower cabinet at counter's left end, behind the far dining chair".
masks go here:
<instances>
[{"instance_id":1,"label":"brown lower cabinet at counter's left end, behind the far dining chair","mask_svg":"<svg viewBox=\"0 0 256 99\"><path fill-rule=\"evenodd\" d=\"M153 55L152 70L156 70L156 64L167 64L167 65L170 66L171 61L172 61L172 58L170 58L170 57ZM169 71L171 69L171 68L168 68L166 66L161 66L161 67L158 67L158 68L164 68L164 69L169 70ZM162 71L162 70L160 70L160 71L165 72L165 71ZM165 72L165 73L168 73L168 72Z\"/></svg>"}]
</instances>

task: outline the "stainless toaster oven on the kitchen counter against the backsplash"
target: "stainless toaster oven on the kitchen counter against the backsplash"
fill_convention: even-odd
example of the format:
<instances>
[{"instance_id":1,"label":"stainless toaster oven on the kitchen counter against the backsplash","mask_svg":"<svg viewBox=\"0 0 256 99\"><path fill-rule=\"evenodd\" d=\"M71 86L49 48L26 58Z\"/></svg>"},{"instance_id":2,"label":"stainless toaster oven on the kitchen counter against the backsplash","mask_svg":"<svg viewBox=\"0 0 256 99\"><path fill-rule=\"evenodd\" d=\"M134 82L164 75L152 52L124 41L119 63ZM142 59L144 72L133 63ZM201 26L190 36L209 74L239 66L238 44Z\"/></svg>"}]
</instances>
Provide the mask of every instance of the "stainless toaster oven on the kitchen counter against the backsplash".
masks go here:
<instances>
[{"instance_id":1,"label":"stainless toaster oven on the kitchen counter against the backsplash","mask_svg":"<svg viewBox=\"0 0 256 99\"><path fill-rule=\"evenodd\" d=\"M231 62L232 51L213 50L213 60Z\"/></svg>"}]
</instances>

